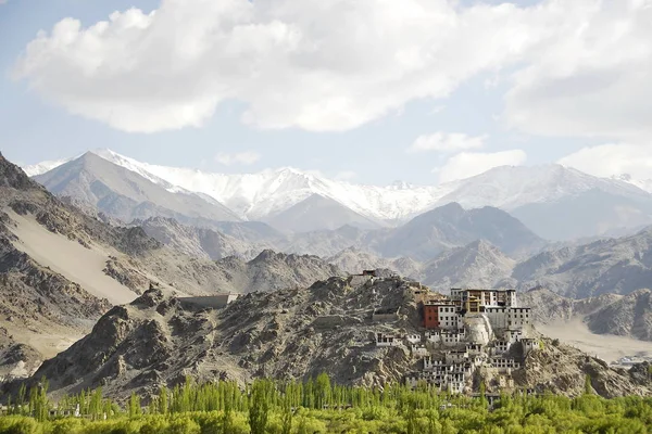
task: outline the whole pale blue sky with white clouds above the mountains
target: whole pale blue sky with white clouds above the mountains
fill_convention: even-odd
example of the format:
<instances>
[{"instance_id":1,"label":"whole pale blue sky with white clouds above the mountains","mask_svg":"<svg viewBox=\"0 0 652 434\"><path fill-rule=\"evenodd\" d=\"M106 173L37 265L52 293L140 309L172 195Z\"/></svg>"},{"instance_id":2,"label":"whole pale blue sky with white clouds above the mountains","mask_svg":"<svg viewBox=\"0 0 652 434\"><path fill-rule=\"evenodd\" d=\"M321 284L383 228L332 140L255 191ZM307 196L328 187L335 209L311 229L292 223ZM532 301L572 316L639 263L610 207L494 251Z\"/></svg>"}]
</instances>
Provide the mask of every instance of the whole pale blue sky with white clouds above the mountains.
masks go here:
<instances>
[{"instance_id":1,"label":"whole pale blue sky with white clouds above the mountains","mask_svg":"<svg viewBox=\"0 0 652 434\"><path fill-rule=\"evenodd\" d=\"M652 0L0 0L0 151L652 178Z\"/></svg>"}]
</instances>

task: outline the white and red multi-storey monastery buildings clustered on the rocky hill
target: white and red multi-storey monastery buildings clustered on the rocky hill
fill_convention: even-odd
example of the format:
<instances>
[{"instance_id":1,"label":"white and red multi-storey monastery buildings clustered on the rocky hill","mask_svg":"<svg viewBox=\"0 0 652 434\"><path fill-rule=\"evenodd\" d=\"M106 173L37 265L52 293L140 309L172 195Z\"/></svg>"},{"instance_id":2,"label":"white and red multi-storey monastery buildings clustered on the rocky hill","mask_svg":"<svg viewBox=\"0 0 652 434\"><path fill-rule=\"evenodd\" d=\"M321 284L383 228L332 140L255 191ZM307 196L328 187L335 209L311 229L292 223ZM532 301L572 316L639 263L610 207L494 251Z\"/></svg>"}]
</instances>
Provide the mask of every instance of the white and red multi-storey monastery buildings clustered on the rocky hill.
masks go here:
<instances>
[{"instance_id":1,"label":"white and red multi-storey monastery buildings clustered on the rocky hill","mask_svg":"<svg viewBox=\"0 0 652 434\"><path fill-rule=\"evenodd\" d=\"M452 289L444 296L413 284L405 291L419 306L423 332L378 333L376 345L403 345L422 360L416 371L405 375L413 387L425 382L451 393L471 392L476 373L492 379L498 387L510 386L513 371L539 348L530 337L530 308L518 305L514 290ZM374 318L385 319L379 314L375 311Z\"/></svg>"}]
</instances>

